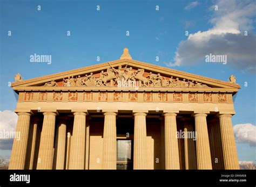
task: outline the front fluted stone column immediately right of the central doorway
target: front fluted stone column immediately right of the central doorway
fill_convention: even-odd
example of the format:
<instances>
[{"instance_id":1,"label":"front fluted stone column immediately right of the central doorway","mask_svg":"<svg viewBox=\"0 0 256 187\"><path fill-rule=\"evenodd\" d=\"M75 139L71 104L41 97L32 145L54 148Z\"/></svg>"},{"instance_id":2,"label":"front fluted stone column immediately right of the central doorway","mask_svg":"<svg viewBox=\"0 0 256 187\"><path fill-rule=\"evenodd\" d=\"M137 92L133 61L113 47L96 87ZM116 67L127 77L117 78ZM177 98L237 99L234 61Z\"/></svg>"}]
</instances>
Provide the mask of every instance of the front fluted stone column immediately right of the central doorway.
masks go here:
<instances>
[{"instance_id":1,"label":"front fluted stone column immediately right of the central doorway","mask_svg":"<svg viewBox=\"0 0 256 187\"><path fill-rule=\"evenodd\" d=\"M146 113L134 113L133 169L147 169L146 160Z\"/></svg>"}]
</instances>

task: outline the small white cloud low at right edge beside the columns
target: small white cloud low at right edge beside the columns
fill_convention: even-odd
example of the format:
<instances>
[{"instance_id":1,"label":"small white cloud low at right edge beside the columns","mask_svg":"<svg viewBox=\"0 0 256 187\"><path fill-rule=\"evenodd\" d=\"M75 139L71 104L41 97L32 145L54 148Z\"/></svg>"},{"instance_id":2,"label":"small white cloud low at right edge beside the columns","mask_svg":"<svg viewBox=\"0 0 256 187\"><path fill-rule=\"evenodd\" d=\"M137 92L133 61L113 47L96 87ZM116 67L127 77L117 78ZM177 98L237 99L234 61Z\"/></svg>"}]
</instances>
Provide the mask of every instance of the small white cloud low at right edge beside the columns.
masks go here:
<instances>
[{"instance_id":1,"label":"small white cloud low at right edge beside the columns","mask_svg":"<svg viewBox=\"0 0 256 187\"><path fill-rule=\"evenodd\" d=\"M233 126L235 140L256 146L256 126L252 124L237 124Z\"/></svg>"}]
</instances>

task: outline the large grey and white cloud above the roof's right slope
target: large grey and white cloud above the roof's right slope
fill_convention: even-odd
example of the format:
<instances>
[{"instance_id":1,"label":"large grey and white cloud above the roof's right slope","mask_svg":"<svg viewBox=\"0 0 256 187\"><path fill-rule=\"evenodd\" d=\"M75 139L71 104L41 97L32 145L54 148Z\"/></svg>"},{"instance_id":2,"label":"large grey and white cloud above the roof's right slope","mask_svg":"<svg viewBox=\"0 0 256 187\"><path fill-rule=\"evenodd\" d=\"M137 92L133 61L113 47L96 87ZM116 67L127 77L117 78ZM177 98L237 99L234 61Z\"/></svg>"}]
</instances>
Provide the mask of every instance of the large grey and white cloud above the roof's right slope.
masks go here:
<instances>
[{"instance_id":1,"label":"large grey and white cloud above the roof's right slope","mask_svg":"<svg viewBox=\"0 0 256 187\"><path fill-rule=\"evenodd\" d=\"M179 43L176 55L168 65L195 64L211 53L227 55L227 64L255 73L256 35L251 30L256 2L220 0L215 4L218 11L212 10L210 19L213 27L188 35L187 40ZM244 31L248 32L247 36Z\"/></svg>"}]
</instances>

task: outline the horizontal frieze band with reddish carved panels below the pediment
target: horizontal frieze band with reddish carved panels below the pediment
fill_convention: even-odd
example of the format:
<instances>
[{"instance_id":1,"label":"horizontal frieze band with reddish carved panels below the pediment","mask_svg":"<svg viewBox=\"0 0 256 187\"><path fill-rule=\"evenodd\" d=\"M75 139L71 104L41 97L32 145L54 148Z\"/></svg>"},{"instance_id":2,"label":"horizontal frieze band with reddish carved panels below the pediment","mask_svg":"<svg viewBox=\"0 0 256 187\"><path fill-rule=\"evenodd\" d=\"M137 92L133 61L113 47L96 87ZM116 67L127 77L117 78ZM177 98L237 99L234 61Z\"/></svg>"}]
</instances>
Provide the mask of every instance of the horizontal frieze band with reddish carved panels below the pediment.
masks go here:
<instances>
[{"instance_id":1,"label":"horizontal frieze band with reddish carved panels below the pediment","mask_svg":"<svg viewBox=\"0 0 256 187\"><path fill-rule=\"evenodd\" d=\"M137 91L24 91L19 92L18 102L179 102L231 104L233 103L232 93Z\"/></svg>"}]
</instances>

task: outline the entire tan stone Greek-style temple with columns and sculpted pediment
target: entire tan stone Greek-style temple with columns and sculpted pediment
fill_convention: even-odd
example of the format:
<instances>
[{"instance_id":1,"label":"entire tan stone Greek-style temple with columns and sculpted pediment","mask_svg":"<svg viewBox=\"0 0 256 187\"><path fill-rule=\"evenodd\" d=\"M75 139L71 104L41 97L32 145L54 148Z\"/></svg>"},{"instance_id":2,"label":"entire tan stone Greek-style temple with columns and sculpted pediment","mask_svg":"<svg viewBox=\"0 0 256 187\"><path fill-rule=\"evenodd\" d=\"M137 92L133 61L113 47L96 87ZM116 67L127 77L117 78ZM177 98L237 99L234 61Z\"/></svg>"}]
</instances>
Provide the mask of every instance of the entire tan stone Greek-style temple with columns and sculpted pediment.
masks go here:
<instances>
[{"instance_id":1,"label":"entire tan stone Greek-style temple with columns and sculpted pediment","mask_svg":"<svg viewBox=\"0 0 256 187\"><path fill-rule=\"evenodd\" d=\"M132 60L127 48L119 60L16 74L9 169L239 169L235 81Z\"/></svg>"}]
</instances>

